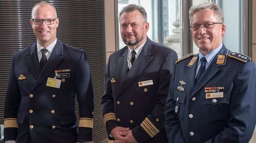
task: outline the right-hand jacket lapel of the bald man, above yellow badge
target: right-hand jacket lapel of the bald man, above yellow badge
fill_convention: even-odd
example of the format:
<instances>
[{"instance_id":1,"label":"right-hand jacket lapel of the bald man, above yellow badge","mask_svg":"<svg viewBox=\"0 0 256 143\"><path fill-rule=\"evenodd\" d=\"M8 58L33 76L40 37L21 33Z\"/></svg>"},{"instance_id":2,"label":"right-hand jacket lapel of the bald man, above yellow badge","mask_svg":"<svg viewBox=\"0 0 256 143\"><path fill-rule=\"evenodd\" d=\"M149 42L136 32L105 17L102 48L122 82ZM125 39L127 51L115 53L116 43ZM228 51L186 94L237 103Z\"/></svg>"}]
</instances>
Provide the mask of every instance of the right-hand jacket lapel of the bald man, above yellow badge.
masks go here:
<instances>
[{"instance_id":1,"label":"right-hand jacket lapel of the bald man, above yellow badge","mask_svg":"<svg viewBox=\"0 0 256 143\"><path fill-rule=\"evenodd\" d=\"M32 90L34 90L39 84L41 84L42 81L48 78L49 74L55 69L63 58L63 43L57 39L57 43L52 50L51 56L47 60L47 63L45 64Z\"/></svg>"}]
</instances>

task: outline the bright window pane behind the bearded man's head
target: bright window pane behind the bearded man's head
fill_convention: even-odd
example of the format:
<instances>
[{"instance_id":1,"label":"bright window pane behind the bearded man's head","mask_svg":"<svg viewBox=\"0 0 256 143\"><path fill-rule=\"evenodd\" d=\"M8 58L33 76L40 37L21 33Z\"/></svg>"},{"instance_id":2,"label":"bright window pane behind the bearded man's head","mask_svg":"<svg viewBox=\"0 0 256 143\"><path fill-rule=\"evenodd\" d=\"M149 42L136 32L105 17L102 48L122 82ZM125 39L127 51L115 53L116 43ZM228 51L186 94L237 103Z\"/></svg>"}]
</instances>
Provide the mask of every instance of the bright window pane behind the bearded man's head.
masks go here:
<instances>
[{"instance_id":1,"label":"bright window pane behind the bearded man's head","mask_svg":"<svg viewBox=\"0 0 256 143\"><path fill-rule=\"evenodd\" d=\"M158 18L157 18L157 0L118 0L118 13L119 11L129 5L129 4L137 4L138 6L143 6L147 12L149 30L147 32L147 36L154 42L158 42ZM120 26L118 24L118 26ZM120 27L118 27L119 31L119 49L125 47L125 43L122 41L120 35Z\"/></svg>"}]
</instances>

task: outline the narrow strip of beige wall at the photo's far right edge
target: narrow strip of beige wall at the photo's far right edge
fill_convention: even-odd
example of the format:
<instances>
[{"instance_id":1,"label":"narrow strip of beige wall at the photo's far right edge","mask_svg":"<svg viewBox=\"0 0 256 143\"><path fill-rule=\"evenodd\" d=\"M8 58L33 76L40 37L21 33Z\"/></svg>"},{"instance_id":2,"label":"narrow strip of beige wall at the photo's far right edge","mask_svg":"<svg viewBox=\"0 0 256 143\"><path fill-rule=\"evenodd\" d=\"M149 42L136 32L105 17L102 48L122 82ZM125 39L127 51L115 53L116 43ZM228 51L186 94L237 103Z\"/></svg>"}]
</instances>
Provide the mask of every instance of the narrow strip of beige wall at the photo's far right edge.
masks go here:
<instances>
[{"instance_id":1,"label":"narrow strip of beige wall at the photo's far right edge","mask_svg":"<svg viewBox=\"0 0 256 143\"><path fill-rule=\"evenodd\" d=\"M252 0L252 59L256 62L256 0Z\"/></svg>"}]
</instances>

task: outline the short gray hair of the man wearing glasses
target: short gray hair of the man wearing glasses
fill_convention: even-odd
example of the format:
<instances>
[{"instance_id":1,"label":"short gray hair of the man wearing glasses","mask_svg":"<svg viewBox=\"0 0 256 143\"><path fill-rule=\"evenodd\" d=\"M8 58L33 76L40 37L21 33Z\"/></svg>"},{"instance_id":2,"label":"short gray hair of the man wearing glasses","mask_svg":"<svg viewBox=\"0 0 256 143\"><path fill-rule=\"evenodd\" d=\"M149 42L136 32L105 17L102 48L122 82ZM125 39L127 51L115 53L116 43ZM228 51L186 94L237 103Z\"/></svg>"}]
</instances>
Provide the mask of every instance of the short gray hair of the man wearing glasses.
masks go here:
<instances>
[{"instance_id":1,"label":"short gray hair of the man wearing glasses","mask_svg":"<svg viewBox=\"0 0 256 143\"><path fill-rule=\"evenodd\" d=\"M215 18L218 20L218 22L223 23L224 22L224 14L220 6L213 2L207 2L207 3L201 3L197 6L192 6L189 8L189 21L191 24L191 18L195 14L195 12L198 11L207 11L212 10L215 12Z\"/></svg>"}]
</instances>

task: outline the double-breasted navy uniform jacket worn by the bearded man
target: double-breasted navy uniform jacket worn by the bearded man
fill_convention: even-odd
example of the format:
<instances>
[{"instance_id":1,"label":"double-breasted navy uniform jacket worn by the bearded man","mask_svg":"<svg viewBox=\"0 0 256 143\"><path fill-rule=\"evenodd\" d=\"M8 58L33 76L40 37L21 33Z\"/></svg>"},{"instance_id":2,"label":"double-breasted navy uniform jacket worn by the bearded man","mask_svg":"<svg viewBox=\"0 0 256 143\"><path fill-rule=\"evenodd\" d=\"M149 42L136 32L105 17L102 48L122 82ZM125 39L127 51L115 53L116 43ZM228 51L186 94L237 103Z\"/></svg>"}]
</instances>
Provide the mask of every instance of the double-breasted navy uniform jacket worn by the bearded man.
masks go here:
<instances>
[{"instance_id":1,"label":"double-breasted navy uniform jacket worn by the bearded man","mask_svg":"<svg viewBox=\"0 0 256 143\"><path fill-rule=\"evenodd\" d=\"M167 143L164 107L177 53L147 38L127 73L127 51L125 46L111 54L105 71L101 106L108 135L122 126L138 143Z\"/></svg>"}]
</instances>

